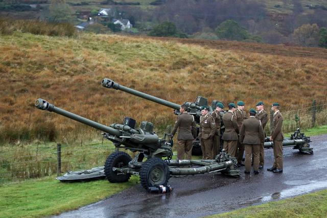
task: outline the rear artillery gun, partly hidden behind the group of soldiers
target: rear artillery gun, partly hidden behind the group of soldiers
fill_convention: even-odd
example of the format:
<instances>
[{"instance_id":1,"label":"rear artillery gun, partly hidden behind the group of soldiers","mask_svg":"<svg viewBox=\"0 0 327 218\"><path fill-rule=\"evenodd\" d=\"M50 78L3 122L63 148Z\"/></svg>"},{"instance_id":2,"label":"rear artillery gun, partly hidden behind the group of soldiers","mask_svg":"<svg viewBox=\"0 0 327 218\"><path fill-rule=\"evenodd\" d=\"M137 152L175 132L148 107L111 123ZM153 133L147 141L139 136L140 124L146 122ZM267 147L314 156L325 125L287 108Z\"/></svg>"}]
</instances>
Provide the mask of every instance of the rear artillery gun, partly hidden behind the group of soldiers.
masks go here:
<instances>
[{"instance_id":1,"label":"rear artillery gun, partly hidden behind the group of soldiers","mask_svg":"<svg viewBox=\"0 0 327 218\"><path fill-rule=\"evenodd\" d=\"M157 98L155 96L152 96L150 94L143 93L141 91L137 91L131 88L128 88L126 86L120 85L119 83L114 82L113 80L104 78L102 80L102 86L106 88L112 88L116 90L121 90L136 96L139 96L143 99L165 105L167 107L170 107L174 109L174 113L176 115L179 113L179 108L181 105L166 101L164 99ZM217 100L212 101L212 105L209 106L209 111L213 111L213 108L215 108L216 103L219 102ZM200 122L200 116L201 116L201 107L202 106L208 106L208 100L206 98L203 98L202 96L197 96L194 102L184 102L184 105L188 107L188 113L192 114L194 116L195 122L199 124ZM221 134L223 134L224 127L221 128ZM313 154L312 148L310 148L310 137L306 137L303 133L300 133L300 130L297 129L294 134L291 135L290 138L286 138L283 141L283 147L293 147L293 149L298 149L301 153L309 153ZM221 141L222 146L222 141ZM269 137L265 139L264 148L269 149L273 147L273 142L269 140ZM201 146L200 146L200 140L196 138L193 142L193 149L192 149L192 155L201 155Z\"/></svg>"}]
</instances>

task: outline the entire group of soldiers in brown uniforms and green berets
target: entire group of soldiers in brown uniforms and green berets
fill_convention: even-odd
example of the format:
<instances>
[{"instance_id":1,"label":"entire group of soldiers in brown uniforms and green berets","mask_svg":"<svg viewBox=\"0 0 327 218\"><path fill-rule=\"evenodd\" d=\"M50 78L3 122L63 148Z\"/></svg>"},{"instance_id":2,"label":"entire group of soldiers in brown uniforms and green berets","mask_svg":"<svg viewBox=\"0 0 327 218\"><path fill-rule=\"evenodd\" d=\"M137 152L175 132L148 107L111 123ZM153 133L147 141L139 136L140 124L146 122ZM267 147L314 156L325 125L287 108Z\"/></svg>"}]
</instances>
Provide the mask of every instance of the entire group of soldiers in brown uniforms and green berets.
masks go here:
<instances>
[{"instance_id":1,"label":"entire group of soldiers in brown uniforms and green berets","mask_svg":"<svg viewBox=\"0 0 327 218\"><path fill-rule=\"evenodd\" d=\"M216 103L215 110L210 114L207 106L201 107L199 134L197 135L194 116L189 114L185 105L180 107L176 123L171 133L173 137L179 129L177 136L177 159L191 159L193 140L198 137L201 143L203 159L215 159L220 153L220 138L224 141L223 149L232 157L237 158L238 166L245 165L245 174L250 174L251 165L253 173L259 174L259 169L264 167L265 152L264 142L266 138L265 126L268 122L268 114L264 110L264 103L258 102L256 110L244 110L243 101L228 104L225 112L221 102ZM271 105L273 110L273 128L270 141L273 141L274 164L267 168L273 173L283 173L283 139L282 132L283 116L279 112L279 104ZM221 127L225 131L221 136ZM245 151L245 161L242 163Z\"/></svg>"}]
</instances>

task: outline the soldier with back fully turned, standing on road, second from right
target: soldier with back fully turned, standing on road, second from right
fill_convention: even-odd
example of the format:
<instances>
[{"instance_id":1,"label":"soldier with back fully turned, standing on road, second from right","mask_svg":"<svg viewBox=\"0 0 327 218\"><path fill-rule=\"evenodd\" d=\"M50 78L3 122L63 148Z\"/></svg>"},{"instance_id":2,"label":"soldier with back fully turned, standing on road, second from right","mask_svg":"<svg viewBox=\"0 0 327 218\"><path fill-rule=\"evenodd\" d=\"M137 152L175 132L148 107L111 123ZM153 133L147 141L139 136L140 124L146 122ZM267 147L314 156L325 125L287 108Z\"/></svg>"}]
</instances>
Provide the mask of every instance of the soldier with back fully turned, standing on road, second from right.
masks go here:
<instances>
[{"instance_id":1,"label":"soldier with back fully turned, standing on road, second from right","mask_svg":"<svg viewBox=\"0 0 327 218\"><path fill-rule=\"evenodd\" d=\"M264 141L265 134L261 121L255 118L255 110L250 109L250 118L244 120L240 130L240 142L245 147L245 174L251 171L251 156L253 159L253 172L259 174L260 145Z\"/></svg>"}]
</instances>

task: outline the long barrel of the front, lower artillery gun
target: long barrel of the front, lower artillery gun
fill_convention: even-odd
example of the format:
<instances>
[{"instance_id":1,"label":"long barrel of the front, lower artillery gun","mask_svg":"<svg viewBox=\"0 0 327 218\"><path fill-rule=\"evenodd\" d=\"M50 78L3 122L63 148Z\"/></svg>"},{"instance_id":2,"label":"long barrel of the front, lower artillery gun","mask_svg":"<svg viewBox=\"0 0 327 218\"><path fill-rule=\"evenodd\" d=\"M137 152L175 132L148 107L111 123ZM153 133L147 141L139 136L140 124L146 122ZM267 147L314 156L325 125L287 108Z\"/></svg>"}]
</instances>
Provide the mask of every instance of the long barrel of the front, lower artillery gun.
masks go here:
<instances>
[{"instance_id":1,"label":"long barrel of the front, lower artillery gun","mask_svg":"<svg viewBox=\"0 0 327 218\"><path fill-rule=\"evenodd\" d=\"M85 124L87 126L93 127L95 129L101 130L103 132L109 133L111 135L115 135L117 137L122 135L122 132L116 129L113 129L111 127L107 127L105 125L99 124L97 122L94 122L90 119L84 118L82 116L76 115L74 113L65 111L61 108L58 108L56 106L54 106L53 104L50 104L49 102L43 100L43 99L38 99L35 101L35 107L37 107L40 110L48 110L50 112L55 112L58 113L60 115L63 115L65 117L71 118L76 120L77 122L80 122L82 124Z\"/></svg>"}]
</instances>

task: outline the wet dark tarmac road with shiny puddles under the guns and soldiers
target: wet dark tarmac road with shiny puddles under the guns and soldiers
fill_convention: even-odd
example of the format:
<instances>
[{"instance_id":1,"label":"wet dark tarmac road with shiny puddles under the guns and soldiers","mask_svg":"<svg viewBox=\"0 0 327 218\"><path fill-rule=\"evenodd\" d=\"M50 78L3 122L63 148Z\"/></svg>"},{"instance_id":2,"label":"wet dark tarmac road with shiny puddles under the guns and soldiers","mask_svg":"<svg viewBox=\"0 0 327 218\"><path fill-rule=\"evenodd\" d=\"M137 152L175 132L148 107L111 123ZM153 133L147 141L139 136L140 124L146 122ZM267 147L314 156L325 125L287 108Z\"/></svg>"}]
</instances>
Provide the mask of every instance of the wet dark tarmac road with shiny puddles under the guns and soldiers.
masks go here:
<instances>
[{"instance_id":1,"label":"wet dark tarmac road with shiny puddles under the guns and soldiers","mask_svg":"<svg viewBox=\"0 0 327 218\"><path fill-rule=\"evenodd\" d=\"M314 155L284 149L284 173L266 170L273 163L265 150L265 167L259 175L231 178L205 174L171 178L173 192L150 194L136 185L96 204L54 217L199 217L285 199L327 188L327 135L311 137Z\"/></svg>"}]
</instances>

